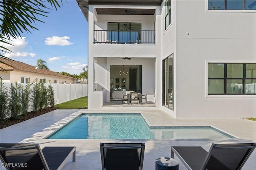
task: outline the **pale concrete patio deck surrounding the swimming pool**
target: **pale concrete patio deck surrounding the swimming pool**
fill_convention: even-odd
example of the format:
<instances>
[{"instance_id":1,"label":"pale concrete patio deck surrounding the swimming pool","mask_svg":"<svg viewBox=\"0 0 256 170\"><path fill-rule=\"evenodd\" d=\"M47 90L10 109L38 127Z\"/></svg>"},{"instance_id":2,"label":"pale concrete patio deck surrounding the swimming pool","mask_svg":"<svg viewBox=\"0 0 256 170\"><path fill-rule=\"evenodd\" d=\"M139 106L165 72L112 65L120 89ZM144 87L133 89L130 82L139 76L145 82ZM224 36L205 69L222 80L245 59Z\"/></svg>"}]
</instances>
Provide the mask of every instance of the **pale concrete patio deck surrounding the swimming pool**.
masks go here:
<instances>
[{"instance_id":1,"label":"pale concrete patio deck surrounding the swimming pool","mask_svg":"<svg viewBox=\"0 0 256 170\"><path fill-rule=\"evenodd\" d=\"M150 126L212 126L236 136L236 139L44 139L81 113L141 113ZM144 170L154 170L155 160L170 157L171 146L202 146L207 151L212 143L256 142L256 122L246 119L173 119L159 110L55 110L0 130L1 143L39 143L44 146L76 146L76 162L70 158L63 170L101 170L100 142L145 142ZM174 157L177 159L177 157ZM178 160L178 159L177 159ZM179 161L179 160L178 160ZM256 169L256 150L242 170ZM180 163L180 170L186 170ZM5 169L2 166L1 170Z\"/></svg>"}]
</instances>

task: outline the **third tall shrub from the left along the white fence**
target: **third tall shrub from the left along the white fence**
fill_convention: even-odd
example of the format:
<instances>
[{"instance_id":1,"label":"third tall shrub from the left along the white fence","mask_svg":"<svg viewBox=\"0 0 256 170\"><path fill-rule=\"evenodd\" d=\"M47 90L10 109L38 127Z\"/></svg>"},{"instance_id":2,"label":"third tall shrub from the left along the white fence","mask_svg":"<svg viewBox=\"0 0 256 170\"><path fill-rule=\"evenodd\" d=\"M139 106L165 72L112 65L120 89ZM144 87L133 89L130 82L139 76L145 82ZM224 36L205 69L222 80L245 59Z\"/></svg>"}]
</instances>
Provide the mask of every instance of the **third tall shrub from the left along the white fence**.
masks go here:
<instances>
[{"instance_id":1,"label":"third tall shrub from the left along the white fence","mask_svg":"<svg viewBox=\"0 0 256 170\"><path fill-rule=\"evenodd\" d=\"M30 102L29 95L31 93L30 86L30 83L27 83L25 88L21 85L21 113L23 115L28 113L28 103Z\"/></svg>"}]
</instances>

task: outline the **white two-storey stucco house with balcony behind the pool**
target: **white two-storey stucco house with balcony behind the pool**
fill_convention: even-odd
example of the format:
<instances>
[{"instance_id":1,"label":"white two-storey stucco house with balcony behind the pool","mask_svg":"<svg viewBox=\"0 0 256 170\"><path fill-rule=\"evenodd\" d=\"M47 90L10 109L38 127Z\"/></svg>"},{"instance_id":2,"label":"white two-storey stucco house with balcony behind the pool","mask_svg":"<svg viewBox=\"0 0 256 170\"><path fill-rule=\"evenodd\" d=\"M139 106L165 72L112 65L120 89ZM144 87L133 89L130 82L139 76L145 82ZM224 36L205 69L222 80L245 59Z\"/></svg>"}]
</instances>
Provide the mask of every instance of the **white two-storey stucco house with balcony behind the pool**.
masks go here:
<instances>
[{"instance_id":1,"label":"white two-storey stucco house with balcony behind the pool","mask_svg":"<svg viewBox=\"0 0 256 170\"><path fill-rule=\"evenodd\" d=\"M174 118L256 117L255 0L77 2L88 21L88 109L123 88Z\"/></svg>"}]
</instances>

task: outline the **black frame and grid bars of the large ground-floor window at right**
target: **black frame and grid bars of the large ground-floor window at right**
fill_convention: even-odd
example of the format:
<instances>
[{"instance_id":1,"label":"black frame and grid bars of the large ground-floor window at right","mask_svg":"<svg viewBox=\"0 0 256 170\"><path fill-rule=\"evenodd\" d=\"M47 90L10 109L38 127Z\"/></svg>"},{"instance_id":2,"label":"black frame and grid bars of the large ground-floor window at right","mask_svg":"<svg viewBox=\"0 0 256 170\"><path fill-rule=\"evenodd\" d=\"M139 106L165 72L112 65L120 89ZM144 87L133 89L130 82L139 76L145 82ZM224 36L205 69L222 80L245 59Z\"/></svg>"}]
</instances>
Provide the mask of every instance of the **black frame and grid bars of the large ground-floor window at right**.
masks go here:
<instances>
[{"instance_id":1,"label":"black frame and grid bars of the large ground-floor window at right","mask_svg":"<svg viewBox=\"0 0 256 170\"><path fill-rule=\"evenodd\" d=\"M208 75L208 66L209 64L224 64L224 77L210 77ZM242 64L242 77L228 77L227 73L227 66L228 64ZM206 94L208 96L216 96L216 95L221 95L221 96L232 96L232 95L253 95L255 96L256 93L246 93L246 80L256 80L256 77L246 77L246 64L256 64L256 63L224 63L224 62L208 62L207 63L207 85L206 85ZM223 85L223 90L224 93L208 93L208 80L223 80L224 85ZM227 93L227 81L228 80L242 80L242 93Z\"/></svg>"}]
</instances>

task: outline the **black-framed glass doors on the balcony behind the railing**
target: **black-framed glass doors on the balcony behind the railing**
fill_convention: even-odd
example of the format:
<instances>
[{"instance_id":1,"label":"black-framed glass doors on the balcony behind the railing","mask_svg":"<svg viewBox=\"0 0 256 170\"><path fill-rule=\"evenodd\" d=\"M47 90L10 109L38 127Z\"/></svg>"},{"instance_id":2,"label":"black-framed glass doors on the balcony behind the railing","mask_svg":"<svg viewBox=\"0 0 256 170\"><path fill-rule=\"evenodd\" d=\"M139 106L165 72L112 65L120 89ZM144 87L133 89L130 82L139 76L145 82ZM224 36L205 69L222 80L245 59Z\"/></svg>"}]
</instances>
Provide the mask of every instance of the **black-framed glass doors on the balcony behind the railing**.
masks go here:
<instances>
[{"instance_id":1,"label":"black-framed glass doors on the balcony behind the railing","mask_svg":"<svg viewBox=\"0 0 256 170\"><path fill-rule=\"evenodd\" d=\"M108 40L113 43L138 43L141 40L141 23L108 22Z\"/></svg>"}]
</instances>

